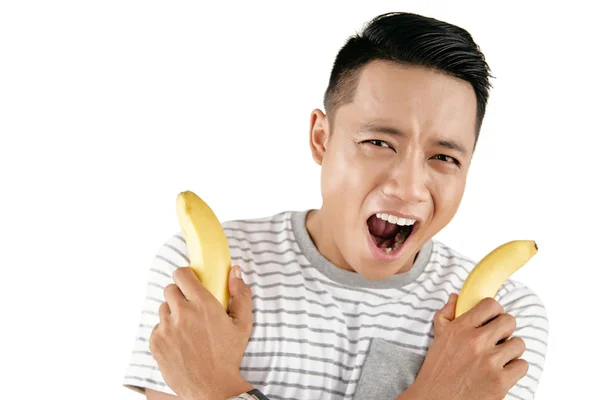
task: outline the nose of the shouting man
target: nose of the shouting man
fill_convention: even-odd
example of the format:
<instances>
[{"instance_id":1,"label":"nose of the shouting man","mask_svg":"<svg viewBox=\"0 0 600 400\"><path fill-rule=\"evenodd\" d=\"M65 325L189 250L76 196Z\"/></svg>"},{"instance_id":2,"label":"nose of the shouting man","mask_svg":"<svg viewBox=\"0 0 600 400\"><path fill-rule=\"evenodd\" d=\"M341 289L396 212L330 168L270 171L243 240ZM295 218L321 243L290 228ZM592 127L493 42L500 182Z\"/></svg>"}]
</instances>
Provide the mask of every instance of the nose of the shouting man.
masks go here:
<instances>
[{"instance_id":1,"label":"nose of the shouting man","mask_svg":"<svg viewBox=\"0 0 600 400\"><path fill-rule=\"evenodd\" d=\"M421 203L429 198L427 171L420 157L404 157L388 170L383 193L403 203Z\"/></svg>"}]
</instances>

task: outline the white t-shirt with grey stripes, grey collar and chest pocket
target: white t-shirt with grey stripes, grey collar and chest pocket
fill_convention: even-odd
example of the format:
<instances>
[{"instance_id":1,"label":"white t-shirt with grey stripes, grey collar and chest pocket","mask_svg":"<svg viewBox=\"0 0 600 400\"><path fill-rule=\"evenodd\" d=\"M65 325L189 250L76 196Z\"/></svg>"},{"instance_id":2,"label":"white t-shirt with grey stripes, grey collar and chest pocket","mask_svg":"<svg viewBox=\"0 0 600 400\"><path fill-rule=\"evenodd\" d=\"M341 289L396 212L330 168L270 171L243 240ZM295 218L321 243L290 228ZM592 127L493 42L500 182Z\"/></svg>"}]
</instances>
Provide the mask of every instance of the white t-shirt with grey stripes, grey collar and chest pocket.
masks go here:
<instances>
[{"instance_id":1,"label":"white t-shirt with grey stripes, grey collar and chest pocket","mask_svg":"<svg viewBox=\"0 0 600 400\"><path fill-rule=\"evenodd\" d=\"M406 273L369 281L331 264L306 229L307 211L223 223L232 263L252 290L253 329L241 375L270 399L395 399L413 382L433 341L433 315L458 293L474 262L430 240ZM158 251L149 271L124 385L174 394L152 358L148 338L163 289L189 265L181 233ZM533 399L548 341L544 305L508 280L496 300L516 317L527 376L508 399Z\"/></svg>"}]
</instances>

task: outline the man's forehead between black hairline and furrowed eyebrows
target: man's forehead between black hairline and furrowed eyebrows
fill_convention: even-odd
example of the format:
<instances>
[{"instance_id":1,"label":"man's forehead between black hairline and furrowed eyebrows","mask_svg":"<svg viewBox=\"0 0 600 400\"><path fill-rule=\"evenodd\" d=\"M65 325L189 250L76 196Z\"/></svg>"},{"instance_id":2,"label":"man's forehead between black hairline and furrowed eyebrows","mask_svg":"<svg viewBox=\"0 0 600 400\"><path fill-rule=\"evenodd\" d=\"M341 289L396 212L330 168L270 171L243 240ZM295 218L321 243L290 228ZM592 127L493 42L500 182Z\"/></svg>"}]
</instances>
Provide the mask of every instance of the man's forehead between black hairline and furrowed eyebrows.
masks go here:
<instances>
[{"instance_id":1,"label":"man's forehead between black hairline and furrowed eyebrows","mask_svg":"<svg viewBox=\"0 0 600 400\"><path fill-rule=\"evenodd\" d=\"M360 74L353 101L339 111L358 124L385 122L408 134L451 136L469 146L475 141L473 88L427 68L371 62Z\"/></svg>"}]
</instances>

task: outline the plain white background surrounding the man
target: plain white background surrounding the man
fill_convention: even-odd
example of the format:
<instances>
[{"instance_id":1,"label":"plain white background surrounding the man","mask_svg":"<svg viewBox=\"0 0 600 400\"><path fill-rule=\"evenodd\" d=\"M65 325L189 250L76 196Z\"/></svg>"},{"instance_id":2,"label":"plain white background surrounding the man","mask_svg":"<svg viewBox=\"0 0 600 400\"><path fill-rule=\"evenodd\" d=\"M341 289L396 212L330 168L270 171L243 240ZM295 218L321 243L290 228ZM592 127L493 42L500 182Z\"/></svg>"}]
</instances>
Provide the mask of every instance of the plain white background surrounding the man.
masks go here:
<instances>
[{"instance_id":1,"label":"plain white background surrounding the man","mask_svg":"<svg viewBox=\"0 0 600 400\"><path fill-rule=\"evenodd\" d=\"M496 77L464 202L438 238L475 258L535 239L514 278L549 313L537 398L597 394L587 2L198 3L0 6L0 398L140 399L121 380L150 261L178 229L175 196L194 190L222 220L318 207L309 113L346 37L391 10L468 29Z\"/></svg>"}]
</instances>

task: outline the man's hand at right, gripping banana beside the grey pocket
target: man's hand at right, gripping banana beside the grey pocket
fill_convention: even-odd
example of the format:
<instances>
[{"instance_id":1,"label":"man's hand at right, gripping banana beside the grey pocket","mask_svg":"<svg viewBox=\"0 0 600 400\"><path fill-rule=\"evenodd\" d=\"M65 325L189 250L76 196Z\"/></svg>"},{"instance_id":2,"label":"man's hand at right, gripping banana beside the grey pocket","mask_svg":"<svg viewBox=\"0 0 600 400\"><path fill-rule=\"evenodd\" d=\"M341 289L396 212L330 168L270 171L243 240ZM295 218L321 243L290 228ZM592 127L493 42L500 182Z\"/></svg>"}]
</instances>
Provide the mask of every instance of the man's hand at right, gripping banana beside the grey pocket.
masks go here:
<instances>
[{"instance_id":1,"label":"man's hand at right, gripping banana beside the grey pocket","mask_svg":"<svg viewBox=\"0 0 600 400\"><path fill-rule=\"evenodd\" d=\"M454 318L456 300L434 318L434 340L413 385L400 399L498 400L527 373L521 338L507 339L515 318L492 298ZM500 343L499 343L500 342Z\"/></svg>"}]
</instances>

